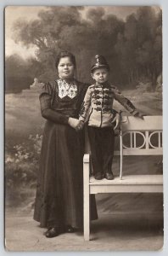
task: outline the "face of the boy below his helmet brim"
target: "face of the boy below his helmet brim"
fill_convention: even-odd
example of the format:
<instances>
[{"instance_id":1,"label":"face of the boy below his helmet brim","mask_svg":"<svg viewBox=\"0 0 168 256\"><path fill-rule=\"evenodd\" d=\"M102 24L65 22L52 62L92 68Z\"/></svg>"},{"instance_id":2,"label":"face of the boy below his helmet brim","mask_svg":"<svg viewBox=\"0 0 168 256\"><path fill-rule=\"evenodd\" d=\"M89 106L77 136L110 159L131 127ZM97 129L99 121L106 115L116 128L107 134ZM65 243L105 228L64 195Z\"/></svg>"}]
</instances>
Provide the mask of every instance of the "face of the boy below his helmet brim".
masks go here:
<instances>
[{"instance_id":1,"label":"face of the boy below his helmet brim","mask_svg":"<svg viewBox=\"0 0 168 256\"><path fill-rule=\"evenodd\" d=\"M104 84L109 79L109 71L105 67L97 68L92 73L92 79L98 84Z\"/></svg>"}]
</instances>

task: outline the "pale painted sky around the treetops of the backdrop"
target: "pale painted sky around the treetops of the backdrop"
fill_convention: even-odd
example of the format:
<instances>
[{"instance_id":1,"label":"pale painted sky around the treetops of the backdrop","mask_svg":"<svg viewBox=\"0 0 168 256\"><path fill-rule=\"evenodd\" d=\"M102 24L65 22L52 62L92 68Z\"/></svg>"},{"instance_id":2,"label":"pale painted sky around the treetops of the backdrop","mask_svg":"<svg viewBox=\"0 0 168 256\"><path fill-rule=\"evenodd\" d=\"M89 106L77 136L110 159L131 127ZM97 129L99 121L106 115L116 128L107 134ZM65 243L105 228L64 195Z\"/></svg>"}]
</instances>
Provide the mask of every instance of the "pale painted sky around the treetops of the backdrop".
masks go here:
<instances>
[{"instance_id":1,"label":"pale painted sky around the treetops of the backdrop","mask_svg":"<svg viewBox=\"0 0 168 256\"><path fill-rule=\"evenodd\" d=\"M92 6L86 6L81 11L82 17L85 19L87 9L93 8ZM107 14L117 15L118 18L125 20L127 15L137 11L137 6L105 6L105 12ZM48 9L47 6L8 6L5 9L5 55L18 54L23 58L29 56L35 56L35 47L25 48L22 44L15 44L12 38L13 24L15 20L35 20L38 18L38 12L42 9ZM158 8L155 8L156 10Z\"/></svg>"}]
</instances>

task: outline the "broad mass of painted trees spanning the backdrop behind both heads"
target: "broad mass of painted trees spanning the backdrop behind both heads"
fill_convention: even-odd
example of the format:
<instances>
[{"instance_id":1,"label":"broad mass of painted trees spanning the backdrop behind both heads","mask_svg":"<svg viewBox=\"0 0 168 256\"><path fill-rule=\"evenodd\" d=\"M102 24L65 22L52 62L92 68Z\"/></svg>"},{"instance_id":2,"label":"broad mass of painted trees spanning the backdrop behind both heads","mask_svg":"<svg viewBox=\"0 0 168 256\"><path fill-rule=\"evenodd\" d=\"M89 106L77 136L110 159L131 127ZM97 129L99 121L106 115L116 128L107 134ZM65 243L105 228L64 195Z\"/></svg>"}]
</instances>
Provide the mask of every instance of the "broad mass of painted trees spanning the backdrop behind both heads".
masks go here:
<instances>
[{"instance_id":1,"label":"broad mass of painted trees spanning the backdrop behind both heads","mask_svg":"<svg viewBox=\"0 0 168 256\"><path fill-rule=\"evenodd\" d=\"M14 40L25 46L36 46L38 77L47 81L55 77L55 56L62 49L76 55L77 77L91 82L92 57L104 55L111 67L115 84L132 84L148 78L153 88L161 73L161 11L141 7L126 21L106 15L104 8L49 7L36 20L17 20Z\"/></svg>"}]
</instances>

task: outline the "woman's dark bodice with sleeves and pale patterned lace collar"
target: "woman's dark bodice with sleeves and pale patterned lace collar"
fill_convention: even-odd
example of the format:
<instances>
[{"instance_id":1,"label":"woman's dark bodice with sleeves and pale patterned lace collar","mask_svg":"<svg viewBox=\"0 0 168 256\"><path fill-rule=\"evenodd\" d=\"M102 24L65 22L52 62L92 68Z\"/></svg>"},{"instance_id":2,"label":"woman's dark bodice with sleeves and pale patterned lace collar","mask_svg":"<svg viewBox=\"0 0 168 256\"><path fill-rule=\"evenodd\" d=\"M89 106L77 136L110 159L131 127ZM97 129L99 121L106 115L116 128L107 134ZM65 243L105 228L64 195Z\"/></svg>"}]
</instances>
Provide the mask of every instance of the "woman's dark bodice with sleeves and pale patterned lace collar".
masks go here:
<instances>
[{"instance_id":1,"label":"woman's dark bodice with sleeves and pale patterned lace collar","mask_svg":"<svg viewBox=\"0 0 168 256\"><path fill-rule=\"evenodd\" d=\"M69 117L79 117L87 84L77 80L66 83L66 86L64 83L64 79L57 79L45 84L40 94L40 102L44 118L65 124Z\"/></svg>"}]
</instances>

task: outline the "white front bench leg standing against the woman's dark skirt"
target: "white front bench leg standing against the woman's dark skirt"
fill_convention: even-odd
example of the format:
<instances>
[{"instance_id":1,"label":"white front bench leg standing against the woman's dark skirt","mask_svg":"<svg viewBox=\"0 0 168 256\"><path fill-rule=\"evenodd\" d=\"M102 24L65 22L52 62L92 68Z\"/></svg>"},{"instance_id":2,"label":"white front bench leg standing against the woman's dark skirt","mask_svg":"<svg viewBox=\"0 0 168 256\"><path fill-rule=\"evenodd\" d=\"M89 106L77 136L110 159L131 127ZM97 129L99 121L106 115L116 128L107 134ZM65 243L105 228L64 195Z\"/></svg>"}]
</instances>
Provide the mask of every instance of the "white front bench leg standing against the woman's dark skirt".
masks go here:
<instances>
[{"instance_id":1,"label":"white front bench leg standing against the woman's dark skirt","mask_svg":"<svg viewBox=\"0 0 168 256\"><path fill-rule=\"evenodd\" d=\"M89 162L83 163L83 229L84 240L89 241L90 236L90 188L89 188Z\"/></svg>"}]
</instances>

